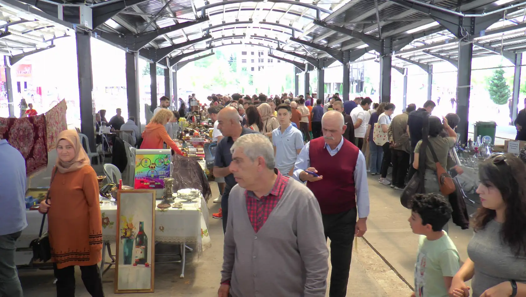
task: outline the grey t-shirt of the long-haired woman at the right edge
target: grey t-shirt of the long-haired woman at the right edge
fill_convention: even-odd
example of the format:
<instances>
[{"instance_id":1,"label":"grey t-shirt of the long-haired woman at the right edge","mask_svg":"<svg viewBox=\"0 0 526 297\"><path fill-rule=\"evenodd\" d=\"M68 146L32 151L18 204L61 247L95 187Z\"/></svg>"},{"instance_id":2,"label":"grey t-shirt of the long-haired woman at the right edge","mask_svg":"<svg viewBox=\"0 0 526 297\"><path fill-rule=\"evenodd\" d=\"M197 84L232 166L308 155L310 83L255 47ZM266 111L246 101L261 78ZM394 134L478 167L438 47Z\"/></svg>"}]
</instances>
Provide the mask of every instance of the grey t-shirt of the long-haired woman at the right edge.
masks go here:
<instances>
[{"instance_id":1,"label":"grey t-shirt of the long-haired woman at the right edge","mask_svg":"<svg viewBox=\"0 0 526 297\"><path fill-rule=\"evenodd\" d=\"M526 256L515 256L508 244L501 240L502 224L490 221L483 230L473 234L468 244L468 255L475 264L471 281L473 297L501 282L515 280L526 283Z\"/></svg>"}]
</instances>

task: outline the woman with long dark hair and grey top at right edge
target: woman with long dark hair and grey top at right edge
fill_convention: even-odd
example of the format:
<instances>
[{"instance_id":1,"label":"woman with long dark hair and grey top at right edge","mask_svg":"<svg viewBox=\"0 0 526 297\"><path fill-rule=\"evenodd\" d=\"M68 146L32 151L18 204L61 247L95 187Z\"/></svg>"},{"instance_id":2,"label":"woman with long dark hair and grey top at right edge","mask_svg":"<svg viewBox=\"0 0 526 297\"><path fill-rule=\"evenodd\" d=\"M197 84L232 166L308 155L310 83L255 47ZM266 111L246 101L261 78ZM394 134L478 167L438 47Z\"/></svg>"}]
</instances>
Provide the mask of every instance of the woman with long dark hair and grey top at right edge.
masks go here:
<instances>
[{"instance_id":1,"label":"woman with long dark hair and grey top at right edge","mask_svg":"<svg viewBox=\"0 0 526 297\"><path fill-rule=\"evenodd\" d=\"M453 277L449 295L526 296L526 165L508 153L479 166L481 207L468 255Z\"/></svg>"}]
</instances>

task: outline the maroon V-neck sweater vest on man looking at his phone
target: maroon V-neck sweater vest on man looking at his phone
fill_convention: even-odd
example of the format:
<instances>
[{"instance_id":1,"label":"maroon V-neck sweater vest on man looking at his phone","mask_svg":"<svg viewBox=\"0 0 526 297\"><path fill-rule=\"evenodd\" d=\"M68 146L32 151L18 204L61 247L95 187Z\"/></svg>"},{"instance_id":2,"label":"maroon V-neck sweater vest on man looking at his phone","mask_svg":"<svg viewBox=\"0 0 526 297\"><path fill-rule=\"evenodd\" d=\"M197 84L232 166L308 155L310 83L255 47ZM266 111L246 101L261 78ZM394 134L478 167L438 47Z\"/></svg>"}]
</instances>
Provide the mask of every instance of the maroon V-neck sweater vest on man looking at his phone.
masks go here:
<instances>
[{"instance_id":1,"label":"maroon V-neck sweater vest on man looking at his phone","mask_svg":"<svg viewBox=\"0 0 526 297\"><path fill-rule=\"evenodd\" d=\"M355 168L359 149L347 139L336 155L331 156L325 148L325 139L310 141L310 167L318 170L322 180L307 182L314 193L322 214L349 211L356 207Z\"/></svg>"}]
</instances>

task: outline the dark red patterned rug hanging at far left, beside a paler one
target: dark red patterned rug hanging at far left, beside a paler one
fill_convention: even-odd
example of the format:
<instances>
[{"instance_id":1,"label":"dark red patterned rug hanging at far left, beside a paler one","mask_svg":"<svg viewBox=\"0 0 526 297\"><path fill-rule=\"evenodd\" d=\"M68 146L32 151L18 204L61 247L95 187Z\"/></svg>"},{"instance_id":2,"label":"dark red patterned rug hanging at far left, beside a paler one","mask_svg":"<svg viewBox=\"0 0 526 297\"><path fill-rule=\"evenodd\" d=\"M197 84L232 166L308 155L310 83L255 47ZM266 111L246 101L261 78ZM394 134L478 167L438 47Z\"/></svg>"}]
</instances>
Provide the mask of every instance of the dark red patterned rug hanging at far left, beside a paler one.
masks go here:
<instances>
[{"instance_id":1,"label":"dark red patterned rug hanging at far left, beside a paler one","mask_svg":"<svg viewBox=\"0 0 526 297\"><path fill-rule=\"evenodd\" d=\"M44 115L29 118L0 118L0 138L7 140L26 160L26 175L47 167L46 119Z\"/></svg>"}]
</instances>

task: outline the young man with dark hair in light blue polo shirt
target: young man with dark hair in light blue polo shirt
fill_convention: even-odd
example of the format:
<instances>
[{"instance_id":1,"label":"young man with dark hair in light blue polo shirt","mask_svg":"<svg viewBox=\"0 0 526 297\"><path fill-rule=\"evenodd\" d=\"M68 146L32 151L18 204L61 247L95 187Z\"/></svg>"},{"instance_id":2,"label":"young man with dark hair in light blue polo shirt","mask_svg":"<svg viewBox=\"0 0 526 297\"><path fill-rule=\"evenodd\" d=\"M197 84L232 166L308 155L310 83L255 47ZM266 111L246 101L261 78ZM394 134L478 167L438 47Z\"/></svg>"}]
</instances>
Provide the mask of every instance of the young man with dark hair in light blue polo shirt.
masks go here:
<instances>
[{"instance_id":1,"label":"young man with dark hair in light blue polo shirt","mask_svg":"<svg viewBox=\"0 0 526 297\"><path fill-rule=\"evenodd\" d=\"M288 104L280 104L277 111L279 127L272 131L272 145L276 157L276 168L282 175L292 176L294 163L304 146L303 135L290 124L292 109Z\"/></svg>"}]
</instances>

